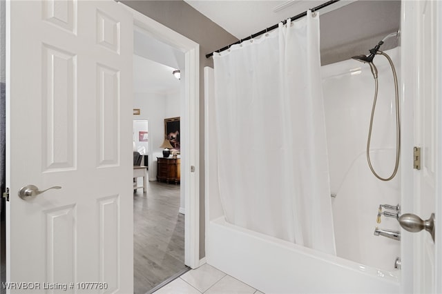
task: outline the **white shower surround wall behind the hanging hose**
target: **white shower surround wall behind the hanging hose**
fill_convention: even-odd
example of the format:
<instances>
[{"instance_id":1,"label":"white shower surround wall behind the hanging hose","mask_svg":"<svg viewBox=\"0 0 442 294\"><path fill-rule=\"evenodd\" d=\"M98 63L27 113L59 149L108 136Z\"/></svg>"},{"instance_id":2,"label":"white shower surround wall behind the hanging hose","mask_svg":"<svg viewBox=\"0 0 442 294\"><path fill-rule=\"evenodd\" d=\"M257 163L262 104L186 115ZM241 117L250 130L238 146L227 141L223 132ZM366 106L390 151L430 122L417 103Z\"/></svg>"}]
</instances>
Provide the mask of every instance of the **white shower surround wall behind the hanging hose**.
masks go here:
<instances>
[{"instance_id":1,"label":"white shower surround wall behind the hanging hose","mask_svg":"<svg viewBox=\"0 0 442 294\"><path fill-rule=\"evenodd\" d=\"M387 51L400 72L398 50ZM396 124L392 70L376 56L379 93L374 116L371 155L375 170L390 177L396 156ZM351 75L350 70L361 69ZM322 67L336 251L339 257L368 266L393 270L400 257L400 242L374 236L376 226L399 231L396 219L382 217L376 223L379 204L400 202L401 175L390 182L376 179L365 156L374 78L367 64L349 59Z\"/></svg>"}]
</instances>

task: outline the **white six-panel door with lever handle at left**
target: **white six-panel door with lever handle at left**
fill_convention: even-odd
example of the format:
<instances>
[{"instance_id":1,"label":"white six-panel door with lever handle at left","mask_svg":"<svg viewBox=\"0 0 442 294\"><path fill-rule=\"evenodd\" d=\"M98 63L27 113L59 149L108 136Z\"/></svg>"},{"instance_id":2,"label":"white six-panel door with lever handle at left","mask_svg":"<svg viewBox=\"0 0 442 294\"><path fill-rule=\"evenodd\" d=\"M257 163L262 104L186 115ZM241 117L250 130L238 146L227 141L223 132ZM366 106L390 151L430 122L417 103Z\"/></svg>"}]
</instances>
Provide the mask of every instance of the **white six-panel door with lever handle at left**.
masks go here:
<instances>
[{"instance_id":1,"label":"white six-panel door with lever handle at left","mask_svg":"<svg viewBox=\"0 0 442 294\"><path fill-rule=\"evenodd\" d=\"M111 0L6 14L6 288L132 293L132 16Z\"/></svg>"}]
</instances>

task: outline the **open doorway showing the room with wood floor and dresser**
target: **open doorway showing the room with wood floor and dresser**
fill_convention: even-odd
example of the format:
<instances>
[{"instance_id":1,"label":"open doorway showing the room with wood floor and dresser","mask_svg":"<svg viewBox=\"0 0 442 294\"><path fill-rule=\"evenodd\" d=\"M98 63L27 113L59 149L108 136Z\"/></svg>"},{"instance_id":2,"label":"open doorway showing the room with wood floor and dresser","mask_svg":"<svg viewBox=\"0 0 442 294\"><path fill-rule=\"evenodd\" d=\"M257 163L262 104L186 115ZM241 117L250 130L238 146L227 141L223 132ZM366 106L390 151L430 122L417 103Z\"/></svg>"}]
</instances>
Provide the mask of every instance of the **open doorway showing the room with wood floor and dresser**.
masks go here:
<instances>
[{"instance_id":1,"label":"open doorway showing the room with wood floor and dresser","mask_svg":"<svg viewBox=\"0 0 442 294\"><path fill-rule=\"evenodd\" d=\"M138 294L155 291L157 286L189 268L184 265L184 214L180 213L184 210L184 206L180 207L184 181L160 181L162 168L157 168L161 166L160 160L180 161L180 155L177 159L173 159L173 155L164 158L160 146L165 138L164 121L182 115L182 81L172 73L176 68L184 68L172 64L175 55L171 55L173 60L163 61L173 67L151 60L156 59L157 48L153 48L153 44L161 48L161 52L173 52L166 44L139 33L135 33L134 44L135 52L147 52L143 57L133 56L134 165L146 166L148 174L146 184L142 177L135 178L137 188L133 194L134 293ZM171 149L172 153L177 150ZM135 163L135 158L141 160Z\"/></svg>"}]
</instances>

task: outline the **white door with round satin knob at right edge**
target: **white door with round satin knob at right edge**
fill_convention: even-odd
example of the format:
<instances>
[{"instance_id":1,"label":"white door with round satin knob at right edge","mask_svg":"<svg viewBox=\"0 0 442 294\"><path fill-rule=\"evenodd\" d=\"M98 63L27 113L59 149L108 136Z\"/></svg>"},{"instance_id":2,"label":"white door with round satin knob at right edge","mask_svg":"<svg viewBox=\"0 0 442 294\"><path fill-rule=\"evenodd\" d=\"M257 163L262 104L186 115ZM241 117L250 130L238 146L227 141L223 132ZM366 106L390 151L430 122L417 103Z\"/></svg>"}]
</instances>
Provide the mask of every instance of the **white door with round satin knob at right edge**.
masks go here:
<instances>
[{"instance_id":1,"label":"white door with round satin knob at right edge","mask_svg":"<svg viewBox=\"0 0 442 294\"><path fill-rule=\"evenodd\" d=\"M403 104L405 115L413 125L405 122L405 136L414 129L412 144L421 148L421 167L414 169L411 186L403 178L402 213L413 213L421 219L435 214L435 240L425 231L402 231L403 291L404 293L442 293L441 222L442 213L442 125L441 125L441 12L439 1L403 1L402 66ZM409 109L409 110L407 110ZM412 111L410 111L412 110ZM403 171L410 169L412 146L405 141L407 156ZM407 171L405 171L407 173ZM404 173L404 174L405 174Z\"/></svg>"}]
</instances>

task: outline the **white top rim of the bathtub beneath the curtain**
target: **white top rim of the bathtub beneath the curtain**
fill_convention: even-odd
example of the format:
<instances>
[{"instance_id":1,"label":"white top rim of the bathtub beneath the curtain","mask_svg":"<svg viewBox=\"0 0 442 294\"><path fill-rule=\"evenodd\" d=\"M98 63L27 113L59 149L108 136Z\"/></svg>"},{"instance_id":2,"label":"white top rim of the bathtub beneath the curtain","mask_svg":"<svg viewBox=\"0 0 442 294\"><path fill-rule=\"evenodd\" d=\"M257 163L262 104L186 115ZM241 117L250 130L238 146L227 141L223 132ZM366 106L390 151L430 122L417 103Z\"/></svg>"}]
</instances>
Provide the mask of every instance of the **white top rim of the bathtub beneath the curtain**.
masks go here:
<instances>
[{"instance_id":1,"label":"white top rim of the bathtub beneath the curtain","mask_svg":"<svg viewBox=\"0 0 442 294\"><path fill-rule=\"evenodd\" d=\"M251 231L247 228L242 228L240 226L236 226L234 224L230 224L224 218L224 215L218 217L217 219L213 219L211 224L215 226L223 226L232 231L240 231L252 237L254 239L258 239L261 242L267 242L269 244L277 244L278 246L284 246L286 248L290 248L293 251L298 251L298 253L303 255L308 255L311 258L318 259L323 262L327 262L330 264L334 264L335 266L339 266L342 268L347 268L348 270L355 271L358 273L362 273L363 275L369 275L370 277L376 277L377 279L383 280L384 282L392 282L393 284L400 284L401 281L401 271L385 271L381 268L374 268L372 266L365 266L364 264L360 264L358 262L354 262L349 259L345 259L343 257L338 257L335 255L330 255L328 253L323 253L321 251L316 251L311 248L307 248L305 246L300 246L298 244L294 244L283 239L278 239L276 237L272 237L269 235L265 235L263 233L258 233L255 231ZM210 237L210 236L206 236Z\"/></svg>"}]
</instances>

